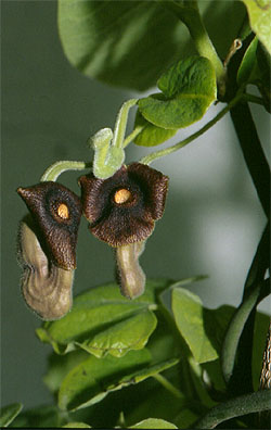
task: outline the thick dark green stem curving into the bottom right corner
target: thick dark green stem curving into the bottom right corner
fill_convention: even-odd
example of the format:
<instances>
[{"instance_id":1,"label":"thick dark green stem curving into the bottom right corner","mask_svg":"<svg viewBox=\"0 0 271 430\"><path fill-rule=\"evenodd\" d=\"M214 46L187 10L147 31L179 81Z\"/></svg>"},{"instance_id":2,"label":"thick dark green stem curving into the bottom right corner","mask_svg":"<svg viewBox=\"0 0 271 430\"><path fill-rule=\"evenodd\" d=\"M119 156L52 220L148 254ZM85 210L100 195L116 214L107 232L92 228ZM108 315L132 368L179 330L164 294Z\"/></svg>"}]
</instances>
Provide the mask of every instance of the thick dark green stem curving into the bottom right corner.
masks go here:
<instances>
[{"instance_id":1,"label":"thick dark green stem curving into the bottom right corner","mask_svg":"<svg viewBox=\"0 0 271 430\"><path fill-rule=\"evenodd\" d=\"M243 415L269 410L271 407L270 390L242 395L212 407L202 419L193 425L193 429L214 429L220 422Z\"/></svg>"}]
</instances>

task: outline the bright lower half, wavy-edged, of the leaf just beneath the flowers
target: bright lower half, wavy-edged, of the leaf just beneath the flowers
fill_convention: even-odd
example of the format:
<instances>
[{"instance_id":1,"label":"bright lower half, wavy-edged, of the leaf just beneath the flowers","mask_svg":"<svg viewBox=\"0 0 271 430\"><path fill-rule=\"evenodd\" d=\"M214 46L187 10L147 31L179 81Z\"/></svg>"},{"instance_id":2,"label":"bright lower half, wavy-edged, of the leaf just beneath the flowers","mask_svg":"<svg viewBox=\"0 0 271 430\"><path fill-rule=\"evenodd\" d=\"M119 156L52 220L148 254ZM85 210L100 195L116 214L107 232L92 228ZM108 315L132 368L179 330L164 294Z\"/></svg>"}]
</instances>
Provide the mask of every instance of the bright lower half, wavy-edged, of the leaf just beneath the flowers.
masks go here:
<instances>
[{"instance_id":1,"label":"bright lower half, wavy-edged, of the leaf just beneath the flowers","mask_svg":"<svg viewBox=\"0 0 271 430\"><path fill-rule=\"evenodd\" d=\"M144 311L116 322L91 340L78 342L78 345L95 357L103 357L107 353L121 357L130 350L144 347L156 324L155 315L150 311Z\"/></svg>"}]
</instances>

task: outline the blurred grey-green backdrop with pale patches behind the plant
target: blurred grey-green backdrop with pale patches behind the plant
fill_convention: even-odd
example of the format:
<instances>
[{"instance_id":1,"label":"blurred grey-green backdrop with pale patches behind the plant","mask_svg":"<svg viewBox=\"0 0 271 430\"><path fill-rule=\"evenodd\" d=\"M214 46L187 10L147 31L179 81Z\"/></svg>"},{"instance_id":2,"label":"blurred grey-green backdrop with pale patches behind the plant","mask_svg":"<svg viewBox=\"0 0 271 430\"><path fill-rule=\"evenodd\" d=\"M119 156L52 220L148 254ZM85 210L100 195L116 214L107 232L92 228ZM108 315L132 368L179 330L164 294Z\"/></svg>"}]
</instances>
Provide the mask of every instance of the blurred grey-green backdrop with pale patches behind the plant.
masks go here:
<instances>
[{"instance_id":1,"label":"blurred grey-green backdrop with pale patches behind the plant","mask_svg":"<svg viewBox=\"0 0 271 430\"><path fill-rule=\"evenodd\" d=\"M100 128L113 127L121 103L134 92L111 88L82 76L64 56L56 27L56 1L5 1L2 9L2 252L1 252L1 405L46 404L42 384L50 346L35 337L40 320L20 292L16 235L26 207L15 190L39 181L57 160L90 160L86 146ZM215 116L182 130L183 139ZM268 154L269 116L253 106ZM132 122L129 125L132 127ZM128 162L147 149L128 149ZM191 287L204 303L238 305L246 273L264 225L250 177L229 115L199 140L153 167L170 177L165 216L141 258L149 277L209 278ZM78 173L60 180L79 192ZM81 222L74 293L114 277L112 250ZM270 301L261 304L268 311Z\"/></svg>"}]
</instances>

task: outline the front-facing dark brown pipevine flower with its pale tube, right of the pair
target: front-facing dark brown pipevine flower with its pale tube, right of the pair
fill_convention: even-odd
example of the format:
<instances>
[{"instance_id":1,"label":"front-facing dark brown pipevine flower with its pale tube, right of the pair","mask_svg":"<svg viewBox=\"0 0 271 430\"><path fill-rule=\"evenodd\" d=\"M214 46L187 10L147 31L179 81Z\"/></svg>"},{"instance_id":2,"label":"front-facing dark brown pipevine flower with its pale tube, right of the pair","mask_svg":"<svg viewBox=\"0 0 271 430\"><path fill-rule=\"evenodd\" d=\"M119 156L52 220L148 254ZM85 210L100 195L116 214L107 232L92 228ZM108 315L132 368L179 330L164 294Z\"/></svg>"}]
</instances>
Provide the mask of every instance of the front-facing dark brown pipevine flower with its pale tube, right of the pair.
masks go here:
<instances>
[{"instance_id":1,"label":"front-facing dark brown pipevine flower with its pale tube, right of the pair","mask_svg":"<svg viewBox=\"0 0 271 430\"><path fill-rule=\"evenodd\" d=\"M79 179L82 210L90 231L116 249L121 293L134 299L144 292L139 265L145 240L164 213L168 177L144 164L122 166L108 179L94 175Z\"/></svg>"}]
</instances>

